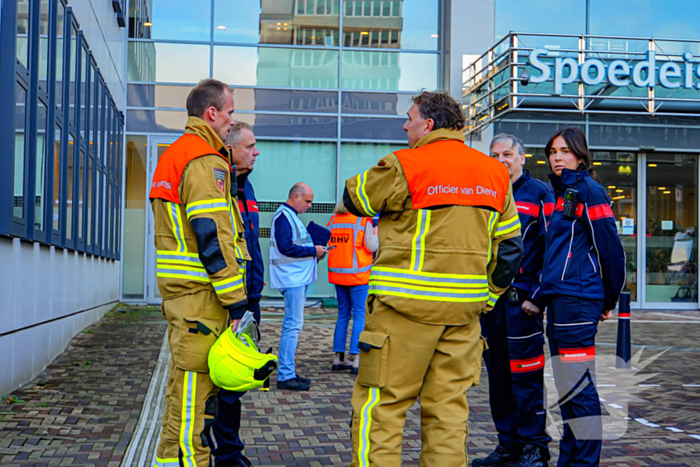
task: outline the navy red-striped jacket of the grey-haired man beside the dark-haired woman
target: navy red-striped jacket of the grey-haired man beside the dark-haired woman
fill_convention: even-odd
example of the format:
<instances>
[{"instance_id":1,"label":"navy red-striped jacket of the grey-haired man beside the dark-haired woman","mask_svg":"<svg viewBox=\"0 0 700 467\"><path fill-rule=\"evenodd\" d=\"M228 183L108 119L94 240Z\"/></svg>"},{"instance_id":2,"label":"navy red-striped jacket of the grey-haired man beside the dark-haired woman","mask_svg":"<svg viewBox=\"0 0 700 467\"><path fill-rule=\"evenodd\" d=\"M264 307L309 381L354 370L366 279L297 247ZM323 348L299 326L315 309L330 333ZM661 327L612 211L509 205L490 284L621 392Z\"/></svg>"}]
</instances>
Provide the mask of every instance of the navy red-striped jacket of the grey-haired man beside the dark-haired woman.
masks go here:
<instances>
[{"instance_id":1,"label":"navy red-striped jacket of the grey-haired man beside the dark-haired woman","mask_svg":"<svg viewBox=\"0 0 700 467\"><path fill-rule=\"evenodd\" d=\"M540 272L544 262L547 222L554 211L554 192L543 181L532 178L529 170L524 170L513 183L513 198L518 207L525 254L511 285L524 291L528 300L542 308Z\"/></svg>"}]
</instances>

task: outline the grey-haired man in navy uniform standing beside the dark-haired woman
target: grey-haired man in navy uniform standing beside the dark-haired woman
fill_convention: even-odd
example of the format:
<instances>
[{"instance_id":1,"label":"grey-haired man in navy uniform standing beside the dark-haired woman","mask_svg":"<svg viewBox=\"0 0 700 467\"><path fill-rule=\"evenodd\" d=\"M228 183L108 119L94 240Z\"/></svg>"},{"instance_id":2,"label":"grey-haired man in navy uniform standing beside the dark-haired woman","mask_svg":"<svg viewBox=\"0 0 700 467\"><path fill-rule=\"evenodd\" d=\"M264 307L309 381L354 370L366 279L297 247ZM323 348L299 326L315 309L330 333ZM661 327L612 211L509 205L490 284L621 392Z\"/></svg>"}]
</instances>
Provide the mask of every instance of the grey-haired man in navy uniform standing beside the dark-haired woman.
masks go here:
<instances>
[{"instance_id":1,"label":"grey-haired man in navy uniform standing beside the dark-haired woman","mask_svg":"<svg viewBox=\"0 0 700 467\"><path fill-rule=\"evenodd\" d=\"M517 137L497 134L490 153L510 171L525 253L510 287L494 309L481 316L482 334L488 342L484 360L498 446L488 457L474 459L472 465L543 467L549 460L551 438L545 431L544 306L539 277L554 194L549 185L523 169L525 150Z\"/></svg>"}]
</instances>

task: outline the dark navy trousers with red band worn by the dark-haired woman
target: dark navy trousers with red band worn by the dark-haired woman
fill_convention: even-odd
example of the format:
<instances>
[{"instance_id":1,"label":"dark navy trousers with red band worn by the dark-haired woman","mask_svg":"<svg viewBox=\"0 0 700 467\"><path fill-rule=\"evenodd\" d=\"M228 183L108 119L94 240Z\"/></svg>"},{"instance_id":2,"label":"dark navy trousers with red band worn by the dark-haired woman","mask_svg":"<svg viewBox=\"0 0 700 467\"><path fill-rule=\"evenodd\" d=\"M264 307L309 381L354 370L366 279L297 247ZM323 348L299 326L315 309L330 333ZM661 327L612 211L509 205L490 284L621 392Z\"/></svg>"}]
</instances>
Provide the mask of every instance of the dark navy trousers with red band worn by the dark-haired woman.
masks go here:
<instances>
[{"instance_id":1,"label":"dark navy trousers with red band worn by the dark-haired woman","mask_svg":"<svg viewBox=\"0 0 700 467\"><path fill-rule=\"evenodd\" d=\"M603 300L547 298L547 337L564 422L557 467L597 466L603 426L595 387L595 335Z\"/></svg>"}]
</instances>

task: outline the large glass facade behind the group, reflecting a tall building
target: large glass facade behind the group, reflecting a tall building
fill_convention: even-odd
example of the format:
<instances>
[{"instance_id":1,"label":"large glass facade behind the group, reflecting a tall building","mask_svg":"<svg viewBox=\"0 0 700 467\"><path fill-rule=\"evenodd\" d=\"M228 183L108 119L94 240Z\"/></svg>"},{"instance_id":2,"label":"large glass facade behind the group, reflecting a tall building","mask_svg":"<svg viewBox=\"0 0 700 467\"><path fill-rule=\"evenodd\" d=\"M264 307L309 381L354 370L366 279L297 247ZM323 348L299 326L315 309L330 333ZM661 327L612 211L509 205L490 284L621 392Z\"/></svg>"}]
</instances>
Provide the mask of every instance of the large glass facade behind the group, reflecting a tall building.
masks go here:
<instances>
[{"instance_id":1,"label":"large glass facade behind the group, reflecting a tall building","mask_svg":"<svg viewBox=\"0 0 700 467\"><path fill-rule=\"evenodd\" d=\"M325 225L347 177L405 147L410 97L443 88L441 9L440 0L131 0L125 236L146 233L154 148L182 133L187 94L208 77L233 88L235 117L258 140L263 255L296 182L315 191L304 221ZM147 249L124 256L125 299L158 298ZM309 295L333 293L321 263Z\"/></svg>"}]
</instances>

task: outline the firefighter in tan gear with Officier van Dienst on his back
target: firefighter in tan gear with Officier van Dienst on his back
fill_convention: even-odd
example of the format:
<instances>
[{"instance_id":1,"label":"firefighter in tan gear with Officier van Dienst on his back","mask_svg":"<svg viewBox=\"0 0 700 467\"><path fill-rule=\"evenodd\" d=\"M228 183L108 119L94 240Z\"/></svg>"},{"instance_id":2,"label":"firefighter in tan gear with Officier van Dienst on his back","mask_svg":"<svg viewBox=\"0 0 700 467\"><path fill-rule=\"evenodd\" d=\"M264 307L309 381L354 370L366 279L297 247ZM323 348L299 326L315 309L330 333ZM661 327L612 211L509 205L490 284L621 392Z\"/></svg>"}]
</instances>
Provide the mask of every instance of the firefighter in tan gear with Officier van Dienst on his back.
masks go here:
<instances>
[{"instance_id":1,"label":"firefighter in tan gear with Officier van Dienst on his back","mask_svg":"<svg viewBox=\"0 0 700 467\"><path fill-rule=\"evenodd\" d=\"M352 396L353 466L401 465L406 411L420 398L423 467L467 464L467 390L481 373L479 315L522 257L508 169L464 144L446 93L414 98L411 149L345 183L360 217L380 213L360 369Z\"/></svg>"}]
</instances>

